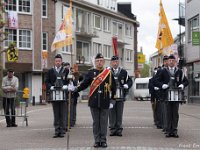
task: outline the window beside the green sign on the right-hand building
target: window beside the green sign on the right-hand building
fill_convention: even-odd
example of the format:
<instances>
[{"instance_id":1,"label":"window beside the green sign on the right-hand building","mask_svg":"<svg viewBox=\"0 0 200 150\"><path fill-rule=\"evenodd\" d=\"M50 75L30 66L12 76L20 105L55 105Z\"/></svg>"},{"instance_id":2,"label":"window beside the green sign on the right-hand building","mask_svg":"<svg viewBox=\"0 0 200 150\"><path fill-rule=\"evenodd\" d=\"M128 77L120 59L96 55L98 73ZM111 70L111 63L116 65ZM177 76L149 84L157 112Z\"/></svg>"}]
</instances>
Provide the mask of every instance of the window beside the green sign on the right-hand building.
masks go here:
<instances>
[{"instance_id":1,"label":"window beside the green sign on the right-hand building","mask_svg":"<svg viewBox=\"0 0 200 150\"><path fill-rule=\"evenodd\" d=\"M188 41L192 41L192 32L199 31L199 15L188 20Z\"/></svg>"}]
</instances>

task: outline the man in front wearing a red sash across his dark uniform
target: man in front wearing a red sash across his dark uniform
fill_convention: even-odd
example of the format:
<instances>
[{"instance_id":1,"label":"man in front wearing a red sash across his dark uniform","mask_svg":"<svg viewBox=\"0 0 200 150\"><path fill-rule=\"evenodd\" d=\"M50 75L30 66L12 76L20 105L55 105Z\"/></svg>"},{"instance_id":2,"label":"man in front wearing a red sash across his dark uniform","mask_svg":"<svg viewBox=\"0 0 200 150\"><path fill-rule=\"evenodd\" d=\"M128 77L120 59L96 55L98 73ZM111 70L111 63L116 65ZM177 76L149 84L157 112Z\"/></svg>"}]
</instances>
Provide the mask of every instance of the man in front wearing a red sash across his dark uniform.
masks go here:
<instances>
[{"instance_id":1,"label":"man in front wearing a red sash across his dark uniform","mask_svg":"<svg viewBox=\"0 0 200 150\"><path fill-rule=\"evenodd\" d=\"M109 107L115 95L115 81L109 68L104 68L102 54L95 57L95 67L75 91L82 91L90 86L88 105L93 119L94 147L107 147L106 136L108 127Z\"/></svg>"}]
</instances>

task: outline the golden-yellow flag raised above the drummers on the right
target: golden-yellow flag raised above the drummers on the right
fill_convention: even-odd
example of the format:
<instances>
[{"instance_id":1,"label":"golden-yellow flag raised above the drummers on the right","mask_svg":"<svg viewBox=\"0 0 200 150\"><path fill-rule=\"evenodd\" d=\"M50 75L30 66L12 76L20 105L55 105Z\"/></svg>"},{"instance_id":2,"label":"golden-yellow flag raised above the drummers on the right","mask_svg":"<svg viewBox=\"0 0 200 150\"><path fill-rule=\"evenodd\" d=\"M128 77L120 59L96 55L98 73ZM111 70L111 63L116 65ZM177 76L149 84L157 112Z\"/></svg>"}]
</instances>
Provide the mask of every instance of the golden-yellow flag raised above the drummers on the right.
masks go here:
<instances>
[{"instance_id":1,"label":"golden-yellow flag raised above the drummers on the right","mask_svg":"<svg viewBox=\"0 0 200 150\"><path fill-rule=\"evenodd\" d=\"M162 54L164 48L167 48L174 43L174 39L172 37L171 30L169 28L169 24L161 0L160 0L159 16L160 16L160 21L158 27L156 48L158 49L158 53Z\"/></svg>"}]
</instances>

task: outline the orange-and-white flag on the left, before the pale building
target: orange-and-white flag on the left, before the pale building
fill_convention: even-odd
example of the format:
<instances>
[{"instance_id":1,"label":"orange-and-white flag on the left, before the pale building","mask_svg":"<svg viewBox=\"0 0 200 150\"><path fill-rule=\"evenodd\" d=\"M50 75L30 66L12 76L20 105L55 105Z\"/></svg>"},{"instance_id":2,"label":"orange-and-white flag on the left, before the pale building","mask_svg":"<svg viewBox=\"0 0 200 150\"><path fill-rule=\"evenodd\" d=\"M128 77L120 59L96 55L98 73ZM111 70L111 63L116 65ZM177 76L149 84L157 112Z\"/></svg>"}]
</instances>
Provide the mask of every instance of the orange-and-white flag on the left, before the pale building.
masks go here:
<instances>
[{"instance_id":1,"label":"orange-and-white flag on the left, before the pale building","mask_svg":"<svg viewBox=\"0 0 200 150\"><path fill-rule=\"evenodd\" d=\"M72 45L72 29L72 1L70 0L70 7L67 10L59 31L56 33L54 41L51 45L51 51L55 51L56 49L64 46Z\"/></svg>"}]
</instances>

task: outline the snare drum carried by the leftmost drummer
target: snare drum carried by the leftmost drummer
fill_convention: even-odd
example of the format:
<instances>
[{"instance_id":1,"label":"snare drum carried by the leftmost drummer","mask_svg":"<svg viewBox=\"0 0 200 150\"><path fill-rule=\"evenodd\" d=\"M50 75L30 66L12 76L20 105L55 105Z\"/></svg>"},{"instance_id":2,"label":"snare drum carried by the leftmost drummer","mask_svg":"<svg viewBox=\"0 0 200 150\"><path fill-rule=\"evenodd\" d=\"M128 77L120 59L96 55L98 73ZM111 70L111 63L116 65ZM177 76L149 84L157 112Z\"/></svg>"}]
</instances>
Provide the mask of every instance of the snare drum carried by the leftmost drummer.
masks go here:
<instances>
[{"instance_id":1,"label":"snare drum carried by the leftmost drummer","mask_svg":"<svg viewBox=\"0 0 200 150\"><path fill-rule=\"evenodd\" d=\"M57 101L66 101L67 90L55 89L50 91L50 99L49 101L57 102Z\"/></svg>"}]
</instances>

